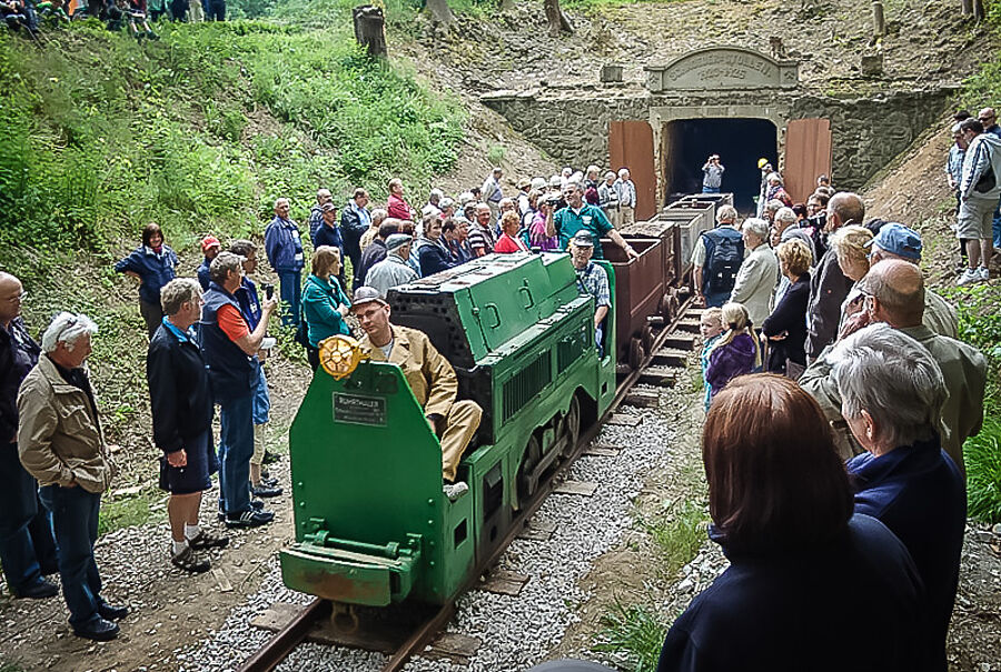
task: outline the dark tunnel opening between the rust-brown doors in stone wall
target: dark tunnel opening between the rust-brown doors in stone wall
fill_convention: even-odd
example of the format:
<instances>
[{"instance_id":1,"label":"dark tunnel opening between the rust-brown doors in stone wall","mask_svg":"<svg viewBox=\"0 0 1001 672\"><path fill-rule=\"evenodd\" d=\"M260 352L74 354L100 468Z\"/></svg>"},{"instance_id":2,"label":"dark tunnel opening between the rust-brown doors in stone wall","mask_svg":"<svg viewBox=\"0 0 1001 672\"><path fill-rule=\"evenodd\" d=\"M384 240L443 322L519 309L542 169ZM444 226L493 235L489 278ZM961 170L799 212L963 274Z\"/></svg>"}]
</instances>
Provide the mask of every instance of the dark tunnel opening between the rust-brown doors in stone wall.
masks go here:
<instances>
[{"instance_id":1,"label":"dark tunnel opening between the rust-brown doors in stone wall","mask_svg":"<svg viewBox=\"0 0 1001 672\"><path fill-rule=\"evenodd\" d=\"M761 188L759 159L779 166L777 130L766 119L680 119L664 124L663 138L668 202L701 192L702 167L710 154L720 154L726 169L722 189L733 192L734 205L746 213Z\"/></svg>"}]
</instances>

